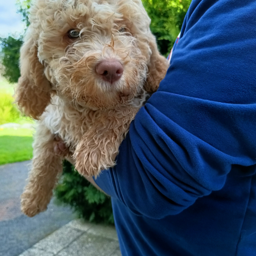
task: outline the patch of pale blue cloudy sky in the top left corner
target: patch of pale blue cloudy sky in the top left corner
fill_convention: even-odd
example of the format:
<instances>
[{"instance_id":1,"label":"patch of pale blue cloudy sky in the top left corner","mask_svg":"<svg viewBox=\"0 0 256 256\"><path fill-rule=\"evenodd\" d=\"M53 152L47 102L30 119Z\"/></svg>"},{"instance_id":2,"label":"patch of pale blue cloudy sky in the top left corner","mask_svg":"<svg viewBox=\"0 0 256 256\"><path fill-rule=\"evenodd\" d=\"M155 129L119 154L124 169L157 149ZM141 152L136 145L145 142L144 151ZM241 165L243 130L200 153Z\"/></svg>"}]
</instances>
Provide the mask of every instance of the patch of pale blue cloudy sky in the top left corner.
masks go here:
<instances>
[{"instance_id":1,"label":"patch of pale blue cloudy sky in the top left corner","mask_svg":"<svg viewBox=\"0 0 256 256\"><path fill-rule=\"evenodd\" d=\"M17 12L16 0L0 0L0 37L23 34L25 24Z\"/></svg>"}]
</instances>

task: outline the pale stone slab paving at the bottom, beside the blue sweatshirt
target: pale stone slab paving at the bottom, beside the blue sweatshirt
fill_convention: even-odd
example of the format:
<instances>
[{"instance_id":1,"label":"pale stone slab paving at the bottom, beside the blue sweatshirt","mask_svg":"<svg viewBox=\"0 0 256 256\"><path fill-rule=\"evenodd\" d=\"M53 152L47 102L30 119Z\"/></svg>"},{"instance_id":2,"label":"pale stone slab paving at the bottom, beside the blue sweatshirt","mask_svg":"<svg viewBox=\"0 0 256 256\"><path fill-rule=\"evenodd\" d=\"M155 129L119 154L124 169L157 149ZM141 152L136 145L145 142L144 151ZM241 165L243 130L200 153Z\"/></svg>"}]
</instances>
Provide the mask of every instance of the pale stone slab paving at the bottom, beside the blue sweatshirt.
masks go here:
<instances>
[{"instance_id":1,"label":"pale stone slab paving at the bottom, beside the blue sweatshirt","mask_svg":"<svg viewBox=\"0 0 256 256\"><path fill-rule=\"evenodd\" d=\"M19 256L121 256L112 226L72 220Z\"/></svg>"}]
</instances>

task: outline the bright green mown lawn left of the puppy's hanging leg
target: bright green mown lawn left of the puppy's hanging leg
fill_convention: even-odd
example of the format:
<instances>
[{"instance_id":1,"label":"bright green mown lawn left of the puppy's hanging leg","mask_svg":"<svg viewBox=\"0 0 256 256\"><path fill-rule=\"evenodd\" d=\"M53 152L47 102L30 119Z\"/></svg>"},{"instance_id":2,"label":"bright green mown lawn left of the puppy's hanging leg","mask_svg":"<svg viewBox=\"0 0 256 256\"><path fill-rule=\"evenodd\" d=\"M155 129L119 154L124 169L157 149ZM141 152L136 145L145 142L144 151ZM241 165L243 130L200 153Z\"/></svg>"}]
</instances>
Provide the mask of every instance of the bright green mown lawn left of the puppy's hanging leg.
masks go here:
<instances>
[{"instance_id":1,"label":"bright green mown lawn left of the puppy's hanging leg","mask_svg":"<svg viewBox=\"0 0 256 256\"><path fill-rule=\"evenodd\" d=\"M0 165L32 158L30 129L0 129Z\"/></svg>"}]
</instances>

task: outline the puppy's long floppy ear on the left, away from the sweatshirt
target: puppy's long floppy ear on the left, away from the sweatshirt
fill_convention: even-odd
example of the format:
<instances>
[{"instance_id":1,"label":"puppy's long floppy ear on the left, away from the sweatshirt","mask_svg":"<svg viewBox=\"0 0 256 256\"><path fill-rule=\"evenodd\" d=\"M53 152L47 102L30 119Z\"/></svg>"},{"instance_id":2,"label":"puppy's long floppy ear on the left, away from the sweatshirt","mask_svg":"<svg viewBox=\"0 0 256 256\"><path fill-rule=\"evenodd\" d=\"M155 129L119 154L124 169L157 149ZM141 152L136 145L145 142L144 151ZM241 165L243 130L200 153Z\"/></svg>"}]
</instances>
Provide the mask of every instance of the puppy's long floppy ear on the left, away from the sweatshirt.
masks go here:
<instances>
[{"instance_id":1,"label":"puppy's long floppy ear on the left, away from the sweatshirt","mask_svg":"<svg viewBox=\"0 0 256 256\"><path fill-rule=\"evenodd\" d=\"M51 101L51 84L44 75L44 65L38 60L37 45L30 31L20 52L20 73L16 88L18 105L26 115L39 119Z\"/></svg>"}]
</instances>

